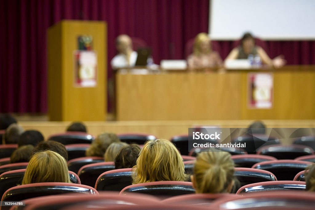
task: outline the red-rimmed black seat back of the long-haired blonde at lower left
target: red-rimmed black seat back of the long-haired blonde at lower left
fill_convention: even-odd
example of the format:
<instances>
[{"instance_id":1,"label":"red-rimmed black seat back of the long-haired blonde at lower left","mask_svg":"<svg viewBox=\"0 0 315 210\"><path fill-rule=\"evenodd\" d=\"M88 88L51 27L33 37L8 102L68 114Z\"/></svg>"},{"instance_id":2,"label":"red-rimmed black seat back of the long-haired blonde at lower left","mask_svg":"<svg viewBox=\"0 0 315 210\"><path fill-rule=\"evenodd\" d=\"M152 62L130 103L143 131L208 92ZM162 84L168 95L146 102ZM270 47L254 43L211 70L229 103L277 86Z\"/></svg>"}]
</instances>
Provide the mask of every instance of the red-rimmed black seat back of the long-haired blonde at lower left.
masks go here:
<instances>
[{"instance_id":1,"label":"red-rimmed black seat back of the long-haired blonde at lower left","mask_svg":"<svg viewBox=\"0 0 315 210\"><path fill-rule=\"evenodd\" d=\"M99 194L93 187L83 184L43 182L11 187L3 194L1 201L22 201L28 198L57 195L70 192L78 192L89 195Z\"/></svg>"}]
</instances>

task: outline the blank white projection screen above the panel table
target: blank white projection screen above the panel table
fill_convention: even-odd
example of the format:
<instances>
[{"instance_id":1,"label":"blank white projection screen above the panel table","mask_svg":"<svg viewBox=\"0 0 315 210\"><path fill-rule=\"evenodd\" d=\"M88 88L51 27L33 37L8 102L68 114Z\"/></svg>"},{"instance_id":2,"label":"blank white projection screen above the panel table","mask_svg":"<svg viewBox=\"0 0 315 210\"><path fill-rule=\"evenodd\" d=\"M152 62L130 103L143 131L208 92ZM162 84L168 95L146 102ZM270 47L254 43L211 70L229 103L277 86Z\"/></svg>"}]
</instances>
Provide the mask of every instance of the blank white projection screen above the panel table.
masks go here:
<instances>
[{"instance_id":1,"label":"blank white projection screen above the panel table","mask_svg":"<svg viewBox=\"0 0 315 210\"><path fill-rule=\"evenodd\" d=\"M265 40L314 40L315 0L209 0L209 34L239 39L244 32Z\"/></svg>"}]
</instances>

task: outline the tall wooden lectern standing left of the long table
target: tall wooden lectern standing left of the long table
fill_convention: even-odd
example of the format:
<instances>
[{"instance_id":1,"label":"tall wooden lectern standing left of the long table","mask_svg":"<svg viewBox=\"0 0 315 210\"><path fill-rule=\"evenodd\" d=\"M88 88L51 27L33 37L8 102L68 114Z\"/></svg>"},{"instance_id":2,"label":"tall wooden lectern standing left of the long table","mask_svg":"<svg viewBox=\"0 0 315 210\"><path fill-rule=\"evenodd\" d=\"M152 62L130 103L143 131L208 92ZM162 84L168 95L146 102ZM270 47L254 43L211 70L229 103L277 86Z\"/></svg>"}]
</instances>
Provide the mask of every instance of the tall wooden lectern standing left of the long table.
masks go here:
<instances>
[{"instance_id":1,"label":"tall wooden lectern standing left of the long table","mask_svg":"<svg viewBox=\"0 0 315 210\"><path fill-rule=\"evenodd\" d=\"M80 37L92 37L87 50L77 51ZM103 21L62 20L48 29L48 110L51 121L105 120L106 40L107 27ZM78 64L77 52L86 54L92 52L90 50L96 60L95 68L88 68L93 70L94 80L92 84L82 82L84 85L81 85L78 72L83 72L84 68ZM89 59L85 60L89 62Z\"/></svg>"}]
</instances>

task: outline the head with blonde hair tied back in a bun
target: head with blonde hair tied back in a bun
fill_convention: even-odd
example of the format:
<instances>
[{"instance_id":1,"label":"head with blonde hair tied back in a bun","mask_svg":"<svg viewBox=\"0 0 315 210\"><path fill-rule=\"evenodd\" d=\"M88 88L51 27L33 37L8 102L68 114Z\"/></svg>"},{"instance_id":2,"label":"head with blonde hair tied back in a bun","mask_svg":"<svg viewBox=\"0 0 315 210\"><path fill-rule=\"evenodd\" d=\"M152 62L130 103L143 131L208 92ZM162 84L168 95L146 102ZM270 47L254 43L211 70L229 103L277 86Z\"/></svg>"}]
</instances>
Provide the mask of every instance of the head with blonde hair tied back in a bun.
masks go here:
<instances>
[{"instance_id":1,"label":"head with blonde hair tied back in a bun","mask_svg":"<svg viewBox=\"0 0 315 210\"><path fill-rule=\"evenodd\" d=\"M201 152L191 176L196 193L230 193L234 185L234 162L228 152Z\"/></svg>"}]
</instances>

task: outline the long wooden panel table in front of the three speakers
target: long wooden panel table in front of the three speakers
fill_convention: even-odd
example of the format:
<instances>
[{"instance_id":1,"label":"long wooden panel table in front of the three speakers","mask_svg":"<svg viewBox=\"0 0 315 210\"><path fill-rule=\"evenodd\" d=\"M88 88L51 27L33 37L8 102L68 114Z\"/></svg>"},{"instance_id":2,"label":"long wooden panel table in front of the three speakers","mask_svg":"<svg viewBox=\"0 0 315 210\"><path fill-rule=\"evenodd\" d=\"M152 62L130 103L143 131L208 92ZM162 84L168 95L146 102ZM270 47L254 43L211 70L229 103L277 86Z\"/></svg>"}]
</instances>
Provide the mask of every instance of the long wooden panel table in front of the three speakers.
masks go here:
<instances>
[{"instance_id":1,"label":"long wooden panel table in front of the three speakers","mask_svg":"<svg viewBox=\"0 0 315 210\"><path fill-rule=\"evenodd\" d=\"M270 109L248 106L248 73L273 74ZM315 66L116 75L117 120L315 119Z\"/></svg>"}]
</instances>

